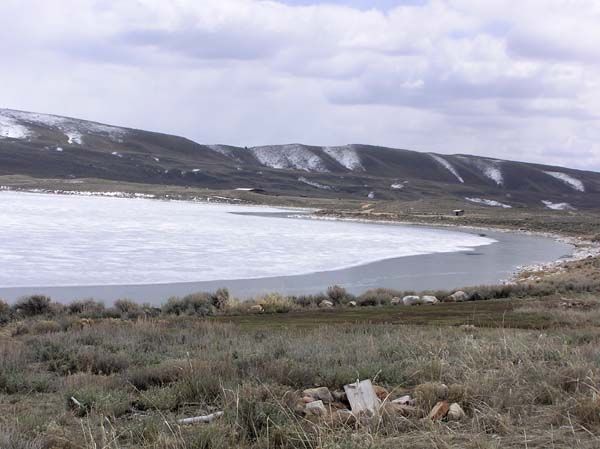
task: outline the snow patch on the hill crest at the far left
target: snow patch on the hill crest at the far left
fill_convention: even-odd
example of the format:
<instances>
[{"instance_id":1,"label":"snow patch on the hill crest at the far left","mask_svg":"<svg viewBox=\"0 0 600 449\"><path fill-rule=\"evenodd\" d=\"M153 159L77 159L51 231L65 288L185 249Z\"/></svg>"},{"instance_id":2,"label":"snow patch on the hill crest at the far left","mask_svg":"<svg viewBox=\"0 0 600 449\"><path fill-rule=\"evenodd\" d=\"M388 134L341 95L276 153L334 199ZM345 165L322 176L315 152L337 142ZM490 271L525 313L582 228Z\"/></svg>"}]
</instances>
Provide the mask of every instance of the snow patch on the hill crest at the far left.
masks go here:
<instances>
[{"instance_id":1,"label":"snow patch on the hill crest at the far left","mask_svg":"<svg viewBox=\"0 0 600 449\"><path fill-rule=\"evenodd\" d=\"M33 112L13 111L0 109L0 120L10 119L21 127L28 129L27 125L45 126L61 131L70 144L81 145L85 134L108 137L116 142L121 142L127 131L116 126L103 125L101 123L75 120L50 114L38 114ZM31 130L28 130L31 134Z\"/></svg>"}]
</instances>

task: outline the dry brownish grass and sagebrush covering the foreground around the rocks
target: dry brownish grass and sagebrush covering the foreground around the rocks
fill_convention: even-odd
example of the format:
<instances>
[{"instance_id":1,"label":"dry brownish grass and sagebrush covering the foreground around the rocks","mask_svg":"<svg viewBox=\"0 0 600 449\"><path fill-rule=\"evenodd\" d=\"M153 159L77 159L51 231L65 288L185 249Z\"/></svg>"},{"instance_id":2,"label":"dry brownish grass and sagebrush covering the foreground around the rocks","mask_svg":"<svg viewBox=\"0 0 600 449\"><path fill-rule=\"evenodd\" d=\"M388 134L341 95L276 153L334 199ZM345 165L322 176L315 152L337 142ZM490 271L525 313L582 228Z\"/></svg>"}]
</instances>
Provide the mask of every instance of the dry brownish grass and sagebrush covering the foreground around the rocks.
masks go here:
<instances>
[{"instance_id":1,"label":"dry brownish grass and sagebrush covering the foreground around the rocks","mask_svg":"<svg viewBox=\"0 0 600 449\"><path fill-rule=\"evenodd\" d=\"M564 312L561 321L578 313ZM0 379L23 379L0 385L0 447L598 447L592 321L543 333L368 322L264 331L180 317L21 333L0 343ZM419 416L449 397L467 419L386 415L347 427L295 410L297 390L337 390L356 378L410 392ZM213 424L175 423L217 409L226 414Z\"/></svg>"}]
</instances>

